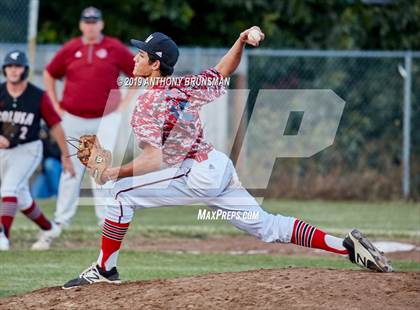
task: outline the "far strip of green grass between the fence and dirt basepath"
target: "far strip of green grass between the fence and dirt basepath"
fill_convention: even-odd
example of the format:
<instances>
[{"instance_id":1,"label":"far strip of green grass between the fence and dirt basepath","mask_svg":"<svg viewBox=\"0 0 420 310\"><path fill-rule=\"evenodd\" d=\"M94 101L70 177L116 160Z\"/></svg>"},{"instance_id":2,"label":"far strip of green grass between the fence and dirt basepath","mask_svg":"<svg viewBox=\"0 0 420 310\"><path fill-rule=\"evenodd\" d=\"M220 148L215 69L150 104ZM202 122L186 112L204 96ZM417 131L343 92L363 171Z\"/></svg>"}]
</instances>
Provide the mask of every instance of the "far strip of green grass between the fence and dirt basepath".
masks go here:
<instances>
[{"instance_id":1,"label":"far strip of green grass between the fence and dirt basepath","mask_svg":"<svg viewBox=\"0 0 420 310\"><path fill-rule=\"evenodd\" d=\"M53 201L41 202L48 216L54 210ZM198 221L199 206L164 207L138 210L130 226L130 234L142 236L181 236L206 238L215 235L238 235L241 231L226 221ZM269 212L306 220L337 235L358 227L373 237L418 239L420 237L420 203L360 203L360 202L293 202L267 200L263 208ZM18 215L12 241L30 242L38 231L36 226ZM79 207L71 230L64 240L84 241L99 236L93 207ZM130 236L129 236L130 237Z\"/></svg>"}]
</instances>

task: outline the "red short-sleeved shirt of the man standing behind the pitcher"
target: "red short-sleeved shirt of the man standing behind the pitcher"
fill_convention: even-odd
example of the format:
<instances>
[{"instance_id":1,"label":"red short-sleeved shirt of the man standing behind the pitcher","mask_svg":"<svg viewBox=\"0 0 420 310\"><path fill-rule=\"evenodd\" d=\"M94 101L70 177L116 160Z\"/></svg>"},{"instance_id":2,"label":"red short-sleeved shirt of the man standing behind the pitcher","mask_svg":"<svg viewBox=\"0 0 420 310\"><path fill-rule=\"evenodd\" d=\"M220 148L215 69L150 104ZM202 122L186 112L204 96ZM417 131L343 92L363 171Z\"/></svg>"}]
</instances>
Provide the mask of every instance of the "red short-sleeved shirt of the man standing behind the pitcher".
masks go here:
<instances>
[{"instance_id":1,"label":"red short-sleeved shirt of the man standing behind the pitcher","mask_svg":"<svg viewBox=\"0 0 420 310\"><path fill-rule=\"evenodd\" d=\"M132 76L134 55L117 39L104 36L98 43L86 44L81 37L67 42L47 66L52 77L65 77L61 107L83 118L102 117L114 111L120 100L117 78L120 72Z\"/></svg>"}]
</instances>

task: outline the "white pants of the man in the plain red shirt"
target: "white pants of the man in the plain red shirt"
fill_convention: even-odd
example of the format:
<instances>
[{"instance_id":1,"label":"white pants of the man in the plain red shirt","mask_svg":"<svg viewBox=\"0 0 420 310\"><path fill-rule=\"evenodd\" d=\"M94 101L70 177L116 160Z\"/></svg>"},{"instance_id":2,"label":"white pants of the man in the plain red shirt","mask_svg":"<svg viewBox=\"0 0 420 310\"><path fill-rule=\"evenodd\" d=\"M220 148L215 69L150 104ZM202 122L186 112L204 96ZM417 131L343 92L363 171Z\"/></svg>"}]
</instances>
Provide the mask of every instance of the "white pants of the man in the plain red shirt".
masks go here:
<instances>
[{"instance_id":1,"label":"white pants of the man in the plain red shirt","mask_svg":"<svg viewBox=\"0 0 420 310\"><path fill-rule=\"evenodd\" d=\"M112 152L117 141L120 122L121 113L118 112L110 113L102 118L81 118L66 112L62 117L61 125L67 137L79 138L86 134L97 134L102 146ZM70 153L75 151L71 148L69 146ZM54 219L55 222L63 225L69 225L76 213L80 186L85 171L85 167L79 162L77 156L71 158L76 176L71 177L66 172L61 174ZM91 186L93 189L97 187L93 180L91 180ZM104 206L97 203L95 192L94 201L96 216L99 222L102 222L105 218Z\"/></svg>"}]
</instances>

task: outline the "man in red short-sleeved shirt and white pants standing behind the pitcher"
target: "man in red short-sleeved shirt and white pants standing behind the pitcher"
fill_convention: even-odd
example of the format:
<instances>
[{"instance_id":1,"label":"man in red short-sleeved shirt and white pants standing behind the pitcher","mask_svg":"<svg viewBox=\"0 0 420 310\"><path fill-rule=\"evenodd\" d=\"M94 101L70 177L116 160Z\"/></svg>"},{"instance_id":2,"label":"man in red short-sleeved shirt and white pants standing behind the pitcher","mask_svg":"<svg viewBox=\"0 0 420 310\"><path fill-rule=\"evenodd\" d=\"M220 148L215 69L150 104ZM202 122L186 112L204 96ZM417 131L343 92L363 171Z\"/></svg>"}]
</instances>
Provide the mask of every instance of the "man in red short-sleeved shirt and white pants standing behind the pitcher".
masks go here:
<instances>
[{"instance_id":1,"label":"man in red short-sleeved shirt and white pants standing behind the pitcher","mask_svg":"<svg viewBox=\"0 0 420 310\"><path fill-rule=\"evenodd\" d=\"M131 76L133 54L120 41L104 36L102 13L94 7L82 11L79 23L82 36L65 43L44 71L44 83L54 107L61 114L66 136L79 137L95 134L101 123L99 137L105 148L112 150L118 135L121 119L119 110L129 103L133 92L121 102L117 78L120 72ZM56 80L65 78L64 93L58 100ZM105 109L106 108L106 109ZM72 158L76 177L65 171L61 174L54 221L61 231L76 213L80 183L84 167L77 158ZM96 201L96 199L95 199ZM103 206L96 203L96 215L101 225L104 219ZM51 241L58 235L40 237L40 242ZM49 244L45 242L44 247Z\"/></svg>"}]
</instances>

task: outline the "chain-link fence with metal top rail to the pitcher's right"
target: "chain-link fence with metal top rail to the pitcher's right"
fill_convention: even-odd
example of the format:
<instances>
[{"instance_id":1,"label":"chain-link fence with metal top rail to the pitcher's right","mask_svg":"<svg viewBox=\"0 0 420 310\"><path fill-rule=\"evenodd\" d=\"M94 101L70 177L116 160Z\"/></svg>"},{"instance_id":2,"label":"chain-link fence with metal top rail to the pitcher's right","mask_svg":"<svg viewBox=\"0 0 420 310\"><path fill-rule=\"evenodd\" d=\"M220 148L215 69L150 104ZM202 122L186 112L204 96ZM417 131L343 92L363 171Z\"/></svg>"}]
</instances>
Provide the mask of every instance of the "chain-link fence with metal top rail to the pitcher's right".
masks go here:
<instances>
[{"instance_id":1,"label":"chain-link fence with metal top rail to the pitcher's right","mask_svg":"<svg viewBox=\"0 0 420 310\"><path fill-rule=\"evenodd\" d=\"M412 70L407 72L405 56L327 51L255 51L249 55L251 91L331 89L346 102L334 144L310 158L278 159L269 196L362 200L403 197L403 165L408 164L403 158L404 83L409 74L412 85L420 82L420 59L414 58ZM420 92L417 87L411 92L408 180L411 197L419 199ZM252 160L259 159L249 160L252 166Z\"/></svg>"}]
</instances>

